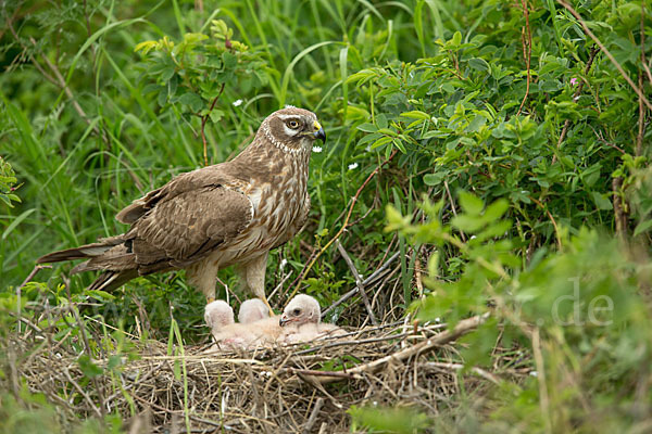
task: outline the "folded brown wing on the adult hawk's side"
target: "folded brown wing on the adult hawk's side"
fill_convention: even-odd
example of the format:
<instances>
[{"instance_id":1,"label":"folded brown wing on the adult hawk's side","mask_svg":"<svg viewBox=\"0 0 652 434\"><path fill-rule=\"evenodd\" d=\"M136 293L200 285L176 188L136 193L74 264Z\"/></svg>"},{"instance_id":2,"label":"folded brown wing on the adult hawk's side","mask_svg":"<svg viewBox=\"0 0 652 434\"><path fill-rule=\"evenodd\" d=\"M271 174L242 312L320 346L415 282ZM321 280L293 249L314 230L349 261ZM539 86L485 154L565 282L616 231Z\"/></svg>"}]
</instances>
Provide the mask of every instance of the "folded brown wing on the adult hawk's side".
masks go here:
<instances>
[{"instance_id":1,"label":"folded brown wing on the adult hawk's side","mask_svg":"<svg viewBox=\"0 0 652 434\"><path fill-rule=\"evenodd\" d=\"M228 244L251 222L253 207L224 186L189 189L160 200L131 226L126 239L139 269L161 263L185 267ZM142 271L142 269L141 269Z\"/></svg>"}]
</instances>

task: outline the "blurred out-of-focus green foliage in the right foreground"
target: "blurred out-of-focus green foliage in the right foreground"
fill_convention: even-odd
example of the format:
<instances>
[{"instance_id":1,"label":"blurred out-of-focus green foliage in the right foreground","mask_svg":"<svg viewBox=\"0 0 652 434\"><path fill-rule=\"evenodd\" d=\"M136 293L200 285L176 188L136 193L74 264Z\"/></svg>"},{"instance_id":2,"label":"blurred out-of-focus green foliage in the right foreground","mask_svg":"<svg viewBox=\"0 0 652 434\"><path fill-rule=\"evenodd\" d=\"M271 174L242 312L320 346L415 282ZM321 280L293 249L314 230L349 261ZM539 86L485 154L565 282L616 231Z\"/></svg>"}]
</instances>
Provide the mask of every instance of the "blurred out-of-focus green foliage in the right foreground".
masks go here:
<instances>
[{"instance_id":1,"label":"blurred out-of-focus green foliage in the right foreground","mask_svg":"<svg viewBox=\"0 0 652 434\"><path fill-rule=\"evenodd\" d=\"M518 423L537 412L539 403L523 398L540 399L541 390L550 401L548 414L531 421L539 430L624 430L631 423L629 414L636 406L649 410L649 400L617 398L622 394L634 396L637 384L649 375L652 315L649 301L640 292L651 278L649 259L641 260L615 240L582 228L577 235L564 237L563 252L542 248L522 268L510 253L510 240L504 239L512 226L501 220L507 209L505 202L485 206L478 197L461 193L460 204L462 213L443 224L441 203L426 202L427 221L416 226L389 208L388 228L401 231L413 243L437 245L438 251L452 245L465 259L461 276L444 281L440 277L446 265L437 254L430 256L429 278L425 280L429 295L415 302L413 308L423 320L441 318L453 324L469 314L492 312L493 321L464 339L468 366L490 361L499 323L503 324L503 341L540 347L543 358L535 363L535 372L544 375L544 383L532 380L509 397L494 398L489 405L493 429L505 430L510 422ZM463 242L453 234L454 229L474 237ZM587 406L601 416L585 413Z\"/></svg>"}]
</instances>

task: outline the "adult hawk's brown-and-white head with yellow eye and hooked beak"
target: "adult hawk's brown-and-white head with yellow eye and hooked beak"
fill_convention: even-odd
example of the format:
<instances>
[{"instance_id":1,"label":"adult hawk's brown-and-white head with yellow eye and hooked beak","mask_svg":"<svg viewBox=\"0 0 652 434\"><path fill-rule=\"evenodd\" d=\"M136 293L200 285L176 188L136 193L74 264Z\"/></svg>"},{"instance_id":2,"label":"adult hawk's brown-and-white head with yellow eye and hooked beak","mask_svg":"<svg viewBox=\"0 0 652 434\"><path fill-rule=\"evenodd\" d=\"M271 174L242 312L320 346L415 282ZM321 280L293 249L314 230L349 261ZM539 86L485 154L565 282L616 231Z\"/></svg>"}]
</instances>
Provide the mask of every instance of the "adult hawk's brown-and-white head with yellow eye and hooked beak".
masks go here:
<instances>
[{"instance_id":1,"label":"adult hawk's brown-and-white head with yellow eye and hooked beak","mask_svg":"<svg viewBox=\"0 0 652 434\"><path fill-rule=\"evenodd\" d=\"M312 150L317 139L326 141L317 116L298 107L288 106L272 113L261 125L261 130L276 148L290 153Z\"/></svg>"}]
</instances>

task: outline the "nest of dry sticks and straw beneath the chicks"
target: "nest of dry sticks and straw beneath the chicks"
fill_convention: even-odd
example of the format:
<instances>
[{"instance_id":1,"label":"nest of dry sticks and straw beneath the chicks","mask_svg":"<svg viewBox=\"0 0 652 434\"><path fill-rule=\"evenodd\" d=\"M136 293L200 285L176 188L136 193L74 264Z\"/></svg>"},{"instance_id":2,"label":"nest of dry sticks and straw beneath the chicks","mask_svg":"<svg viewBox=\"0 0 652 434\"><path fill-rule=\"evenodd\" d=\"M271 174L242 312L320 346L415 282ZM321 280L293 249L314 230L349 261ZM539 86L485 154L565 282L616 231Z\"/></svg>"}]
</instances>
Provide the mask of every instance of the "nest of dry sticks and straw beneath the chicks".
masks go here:
<instances>
[{"instance_id":1,"label":"nest of dry sticks and straw beneath the chicks","mask_svg":"<svg viewBox=\"0 0 652 434\"><path fill-rule=\"evenodd\" d=\"M314 341L248 353L208 353L80 329L64 335L27 329L8 341L7 388L24 382L57 405L61 420L118 412L128 432L341 432L351 406L411 406L430 416L459 391L450 344L486 317L416 328L393 322ZM18 339L15 339L18 337ZM101 341L101 342L99 342ZM88 348L104 358L90 359ZM120 356L118 356L120 354ZM473 386L496 382L478 370Z\"/></svg>"}]
</instances>

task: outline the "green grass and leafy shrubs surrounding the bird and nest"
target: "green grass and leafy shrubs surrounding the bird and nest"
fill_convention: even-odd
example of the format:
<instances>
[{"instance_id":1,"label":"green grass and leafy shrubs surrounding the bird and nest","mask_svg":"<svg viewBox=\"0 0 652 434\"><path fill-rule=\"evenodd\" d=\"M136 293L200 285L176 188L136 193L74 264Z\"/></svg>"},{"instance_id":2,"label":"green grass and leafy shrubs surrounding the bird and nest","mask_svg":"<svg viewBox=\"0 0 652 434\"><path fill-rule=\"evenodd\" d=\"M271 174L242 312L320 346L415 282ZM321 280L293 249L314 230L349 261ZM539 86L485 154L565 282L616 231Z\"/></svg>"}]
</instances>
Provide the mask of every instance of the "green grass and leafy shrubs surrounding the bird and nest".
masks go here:
<instances>
[{"instance_id":1,"label":"green grass and leafy shrubs surrounding the bird and nest","mask_svg":"<svg viewBox=\"0 0 652 434\"><path fill-rule=\"evenodd\" d=\"M651 429L649 3L14 1L0 20L3 345L17 303L88 295L125 330L139 299L158 339L174 306L186 341L200 341L203 299L181 273L114 297L57 265L21 299L16 288L38 256L123 231L122 207L202 166L202 130L218 163L292 104L317 113L328 142L312 156L309 225L272 255L268 285L283 259L291 282L312 247L323 254L305 290L338 299L354 279L323 247L347 225L340 241L363 276L401 253L401 309L451 322L492 312L465 340L468 366L491 366L501 345L537 374L461 394L436 422L427 409L385 420L358 408L353 427ZM359 326L358 303L329 319ZM13 429L55 411L28 393L0 403Z\"/></svg>"}]
</instances>

